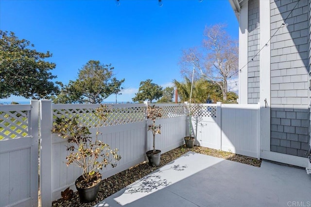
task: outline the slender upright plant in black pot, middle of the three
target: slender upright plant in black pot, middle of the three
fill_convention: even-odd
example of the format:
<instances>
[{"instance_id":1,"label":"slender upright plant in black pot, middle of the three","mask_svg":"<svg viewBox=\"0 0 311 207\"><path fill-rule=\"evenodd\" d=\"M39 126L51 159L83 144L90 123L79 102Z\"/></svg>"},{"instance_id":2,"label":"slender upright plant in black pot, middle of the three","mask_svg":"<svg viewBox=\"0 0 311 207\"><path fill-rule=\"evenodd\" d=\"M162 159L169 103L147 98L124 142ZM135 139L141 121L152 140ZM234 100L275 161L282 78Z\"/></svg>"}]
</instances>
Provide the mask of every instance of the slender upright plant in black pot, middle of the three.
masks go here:
<instances>
[{"instance_id":1,"label":"slender upright plant in black pot, middle of the three","mask_svg":"<svg viewBox=\"0 0 311 207\"><path fill-rule=\"evenodd\" d=\"M147 119L151 121L148 125L148 131L152 132L153 135L153 150L146 152L148 157L149 165L152 167L160 165L161 150L155 150L155 135L161 134L161 125L155 125L155 120L162 117L162 108L155 105L147 107Z\"/></svg>"}]
</instances>

